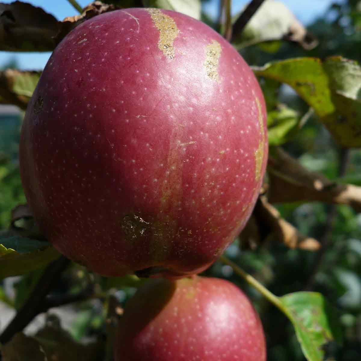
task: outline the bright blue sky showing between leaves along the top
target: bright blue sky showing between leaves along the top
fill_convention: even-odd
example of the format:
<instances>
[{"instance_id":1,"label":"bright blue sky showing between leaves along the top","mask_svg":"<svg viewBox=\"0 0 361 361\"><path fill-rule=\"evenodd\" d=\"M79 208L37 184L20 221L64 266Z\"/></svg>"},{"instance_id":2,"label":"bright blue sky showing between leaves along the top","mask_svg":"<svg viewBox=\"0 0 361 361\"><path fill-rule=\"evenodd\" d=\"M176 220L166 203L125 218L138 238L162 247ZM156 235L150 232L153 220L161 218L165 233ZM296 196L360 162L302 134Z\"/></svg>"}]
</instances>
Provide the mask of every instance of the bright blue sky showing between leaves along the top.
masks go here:
<instances>
[{"instance_id":1,"label":"bright blue sky showing between leaves along the top","mask_svg":"<svg viewBox=\"0 0 361 361\"><path fill-rule=\"evenodd\" d=\"M13 0L3 0L3 3L11 3ZM212 0L206 4L205 10L210 15L217 13L217 4L219 0ZM27 0L35 6L41 6L45 11L54 15L58 20L67 16L77 14L77 11L69 4L67 0ZM81 6L89 4L90 0L78 0ZM239 12L249 0L233 0L232 12ZM332 2L342 2L342 0L283 0L283 3L290 8L296 17L304 24L313 21L314 18L322 16ZM9 61L9 58L15 56L21 69L38 70L43 69L50 53L9 53L0 52L0 66Z\"/></svg>"}]
</instances>

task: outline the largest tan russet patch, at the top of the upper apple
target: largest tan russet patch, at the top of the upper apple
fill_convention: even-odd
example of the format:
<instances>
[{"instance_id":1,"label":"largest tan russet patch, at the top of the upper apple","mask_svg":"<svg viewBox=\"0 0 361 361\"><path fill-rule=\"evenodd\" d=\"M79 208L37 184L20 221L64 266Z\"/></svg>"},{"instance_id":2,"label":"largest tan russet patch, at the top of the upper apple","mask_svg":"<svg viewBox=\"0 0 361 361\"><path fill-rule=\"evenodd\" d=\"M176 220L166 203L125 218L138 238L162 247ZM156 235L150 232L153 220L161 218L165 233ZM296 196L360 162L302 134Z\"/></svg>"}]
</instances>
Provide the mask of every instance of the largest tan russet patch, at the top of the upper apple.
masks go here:
<instances>
[{"instance_id":1,"label":"largest tan russet patch, at the top of the upper apple","mask_svg":"<svg viewBox=\"0 0 361 361\"><path fill-rule=\"evenodd\" d=\"M151 14L152 21L155 27L159 30L158 48L163 54L169 58L174 59L173 41L178 36L178 27L170 16L161 12L160 9L147 9Z\"/></svg>"}]
</instances>

